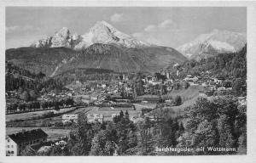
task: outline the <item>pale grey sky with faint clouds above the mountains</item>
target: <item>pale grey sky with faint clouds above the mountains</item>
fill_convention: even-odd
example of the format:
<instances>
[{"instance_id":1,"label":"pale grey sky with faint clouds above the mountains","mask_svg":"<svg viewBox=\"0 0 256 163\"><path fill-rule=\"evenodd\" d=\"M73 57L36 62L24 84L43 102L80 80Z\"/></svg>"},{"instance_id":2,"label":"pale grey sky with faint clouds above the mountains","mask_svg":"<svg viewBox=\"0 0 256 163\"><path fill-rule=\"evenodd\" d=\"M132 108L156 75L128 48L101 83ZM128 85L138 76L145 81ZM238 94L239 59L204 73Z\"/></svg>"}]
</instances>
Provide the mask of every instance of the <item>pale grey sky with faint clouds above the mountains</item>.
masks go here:
<instances>
[{"instance_id":1,"label":"pale grey sky with faint clouds above the mountains","mask_svg":"<svg viewBox=\"0 0 256 163\"><path fill-rule=\"evenodd\" d=\"M144 42L177 48L214 29L247 32L245 7L6 7L6 48L29 46L67 27L84 34L105 20Z\"/></svg>"}]
</instances>

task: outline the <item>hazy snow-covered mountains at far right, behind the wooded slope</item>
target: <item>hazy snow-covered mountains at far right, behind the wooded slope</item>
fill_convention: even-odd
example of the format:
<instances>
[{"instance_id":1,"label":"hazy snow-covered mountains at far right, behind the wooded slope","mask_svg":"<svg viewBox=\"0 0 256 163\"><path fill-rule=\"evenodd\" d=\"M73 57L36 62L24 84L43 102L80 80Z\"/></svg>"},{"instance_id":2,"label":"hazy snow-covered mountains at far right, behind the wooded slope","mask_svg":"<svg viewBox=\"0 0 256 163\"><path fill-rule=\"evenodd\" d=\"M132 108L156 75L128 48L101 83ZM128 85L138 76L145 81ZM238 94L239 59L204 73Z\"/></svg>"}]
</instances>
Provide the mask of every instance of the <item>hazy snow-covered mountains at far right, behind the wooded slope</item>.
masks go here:
<instances>
[{"instance_id":1,"label":"hazy snow-covered mountains at far right, behind the wooded slope","mask_svg":"<svg viewBox=\"0 0 256 163\"><path fill-rule=\"evenodd\" d=\"M208 34L201 34L195 40L185 43L177 51L189 59L202 59L218 53L237 52L247 43L245 33L233 31L213 30Z\"/></svg>"}]
</instances>

